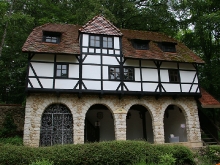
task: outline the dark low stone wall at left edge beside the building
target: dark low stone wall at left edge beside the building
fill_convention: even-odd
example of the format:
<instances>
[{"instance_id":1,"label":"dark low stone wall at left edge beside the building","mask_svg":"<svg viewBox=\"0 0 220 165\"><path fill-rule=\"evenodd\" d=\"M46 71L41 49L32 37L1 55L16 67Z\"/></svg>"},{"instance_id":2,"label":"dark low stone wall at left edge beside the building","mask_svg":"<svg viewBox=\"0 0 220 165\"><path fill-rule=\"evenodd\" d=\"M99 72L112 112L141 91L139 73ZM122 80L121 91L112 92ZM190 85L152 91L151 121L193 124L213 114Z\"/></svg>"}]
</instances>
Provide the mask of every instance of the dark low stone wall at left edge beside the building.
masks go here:
<instances>
[{"instance_id":1,"label":"dark low stone wall at left edge beside the building","mask_svg":"<svg viewBox=\"0 0 220 165\"><path fill-rule=\"evenodd\" d=\"M14 122L17 125L17 131L24 130L24 107L21 105L0 105L0 128L5 120L7 113L13 116Z\"/></svg>"}]
</instances>

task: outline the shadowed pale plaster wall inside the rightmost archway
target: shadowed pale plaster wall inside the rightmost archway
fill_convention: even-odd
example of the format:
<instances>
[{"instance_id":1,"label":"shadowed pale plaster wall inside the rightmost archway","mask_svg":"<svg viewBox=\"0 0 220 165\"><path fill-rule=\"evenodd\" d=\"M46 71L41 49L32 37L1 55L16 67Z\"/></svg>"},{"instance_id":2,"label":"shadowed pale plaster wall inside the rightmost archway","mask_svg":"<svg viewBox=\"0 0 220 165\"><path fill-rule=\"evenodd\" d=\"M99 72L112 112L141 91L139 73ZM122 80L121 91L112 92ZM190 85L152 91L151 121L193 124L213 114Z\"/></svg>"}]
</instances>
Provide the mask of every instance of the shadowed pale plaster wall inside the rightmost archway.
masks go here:
<instances>
[{"instance_id":1,"label":"shadowed pale plaster wall inside the rightmost archway","mask_svg":"<svg viewBox=\"0 0 220 165\"><path fill-rule=\"evenodd\" d=\"M165 143L169 143L170 134L179 136L180 142L187 142L186 128L181 128L181 124L186 125L186 120L182 111L175 106L174 110L168 110L169 116L164 116Z\"/></svg>"}]
</instances>

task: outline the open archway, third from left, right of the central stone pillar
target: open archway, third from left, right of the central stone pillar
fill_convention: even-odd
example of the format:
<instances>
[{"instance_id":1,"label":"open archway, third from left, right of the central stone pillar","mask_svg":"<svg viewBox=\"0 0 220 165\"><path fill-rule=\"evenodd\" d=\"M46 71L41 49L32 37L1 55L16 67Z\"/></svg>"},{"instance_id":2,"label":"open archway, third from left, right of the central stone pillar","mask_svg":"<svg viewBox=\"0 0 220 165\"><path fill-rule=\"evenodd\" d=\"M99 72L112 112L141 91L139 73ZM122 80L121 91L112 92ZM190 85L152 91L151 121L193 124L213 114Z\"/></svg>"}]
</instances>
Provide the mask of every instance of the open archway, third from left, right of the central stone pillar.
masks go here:
<instances>
[{"instance_id":1,"label":"open archway, third from left, right of the central stone pillar","mask_svg":"<svg viewBox=\"0 0 220 165\"><path fill-rule=\"evenodd\" d=\"M126 118L127 140L145 139L153 143L152 119L149 111L142 105L133 105Z\"/></svg>"}]
</instances>

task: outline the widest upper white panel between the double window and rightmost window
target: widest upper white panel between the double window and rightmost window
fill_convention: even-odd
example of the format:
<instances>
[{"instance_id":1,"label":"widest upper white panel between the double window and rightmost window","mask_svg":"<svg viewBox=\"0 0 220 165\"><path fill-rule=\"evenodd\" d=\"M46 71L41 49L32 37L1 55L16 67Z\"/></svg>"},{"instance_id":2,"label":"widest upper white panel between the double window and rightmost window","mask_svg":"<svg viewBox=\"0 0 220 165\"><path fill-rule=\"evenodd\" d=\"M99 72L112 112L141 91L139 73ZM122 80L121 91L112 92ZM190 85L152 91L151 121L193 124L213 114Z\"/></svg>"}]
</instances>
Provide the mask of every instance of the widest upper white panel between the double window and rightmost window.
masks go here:
<instances>
[{"instance_id":1,"label":"widest upper white panel between the double window and rightmost window","mask_svg":"<svg viewBox=\"0 0 220 165\"><path fill-rule=\"evenodd\" d=\"M156 81L158 82L158 72L157 69L142 69L142 80L143 81Z\"/></svg>"}]
</instances>

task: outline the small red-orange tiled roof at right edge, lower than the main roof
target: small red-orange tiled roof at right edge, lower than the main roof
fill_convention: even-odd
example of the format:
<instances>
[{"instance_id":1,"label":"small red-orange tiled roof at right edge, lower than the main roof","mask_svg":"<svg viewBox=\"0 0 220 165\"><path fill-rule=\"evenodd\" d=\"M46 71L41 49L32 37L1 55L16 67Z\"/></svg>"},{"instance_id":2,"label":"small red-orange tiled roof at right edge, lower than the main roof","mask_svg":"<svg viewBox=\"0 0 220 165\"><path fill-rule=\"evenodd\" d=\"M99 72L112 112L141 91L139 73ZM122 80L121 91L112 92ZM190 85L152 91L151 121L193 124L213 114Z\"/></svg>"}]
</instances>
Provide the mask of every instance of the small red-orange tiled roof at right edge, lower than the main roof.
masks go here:
<instances>
[{"instance_id":1,"label":"small red-orange tiled roof at right edge, lower than the main roof","mask_svg":"<svg viewBox=\"0 0 220 165\"><path fill-rule=\"evenodd\" d=\"M201 94L202 97L199 99L199 102L203 108L220 108L220 102L204 89L201 89Z\"/></svg>"}]
</instances>

